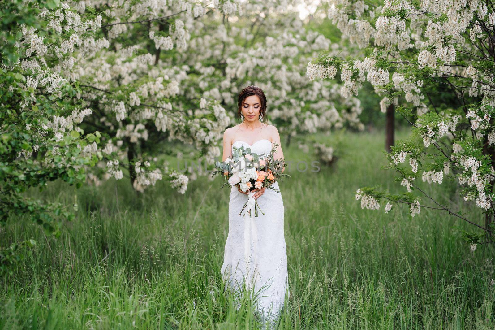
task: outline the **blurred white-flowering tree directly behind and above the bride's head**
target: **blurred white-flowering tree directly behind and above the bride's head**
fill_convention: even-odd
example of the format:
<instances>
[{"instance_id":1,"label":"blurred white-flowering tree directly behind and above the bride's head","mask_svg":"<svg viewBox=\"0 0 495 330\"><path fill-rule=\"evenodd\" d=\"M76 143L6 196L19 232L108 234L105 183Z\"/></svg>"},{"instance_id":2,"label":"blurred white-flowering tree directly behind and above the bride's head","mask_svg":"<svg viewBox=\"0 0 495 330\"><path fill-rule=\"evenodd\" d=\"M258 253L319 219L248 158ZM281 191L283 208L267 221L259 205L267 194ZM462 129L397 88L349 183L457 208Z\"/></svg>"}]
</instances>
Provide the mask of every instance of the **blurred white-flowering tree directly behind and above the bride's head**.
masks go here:
<instances>
[{"instance_id":1,"label":"blurred white-flowering tree directly behind and above the bride's head","mask_svg":"<svg viewBox=\"0 0 495 330\"><path fill-rule=\"evenodd\" d=\"M298 1L290 1L296 7ZM239 14L198 21L202 31L191 41L183 61L194 67L186 88L197 97L220 100L236 123L235 96L254 84L268 96L265 121L291 137L318 129L363 126L357 98L342 98L338 84L308 82L307 60L330 47L330 40L306 31L288 2L246 1ZM193 75L193 73L195 73Z\"/></svg>"}]
</instances>

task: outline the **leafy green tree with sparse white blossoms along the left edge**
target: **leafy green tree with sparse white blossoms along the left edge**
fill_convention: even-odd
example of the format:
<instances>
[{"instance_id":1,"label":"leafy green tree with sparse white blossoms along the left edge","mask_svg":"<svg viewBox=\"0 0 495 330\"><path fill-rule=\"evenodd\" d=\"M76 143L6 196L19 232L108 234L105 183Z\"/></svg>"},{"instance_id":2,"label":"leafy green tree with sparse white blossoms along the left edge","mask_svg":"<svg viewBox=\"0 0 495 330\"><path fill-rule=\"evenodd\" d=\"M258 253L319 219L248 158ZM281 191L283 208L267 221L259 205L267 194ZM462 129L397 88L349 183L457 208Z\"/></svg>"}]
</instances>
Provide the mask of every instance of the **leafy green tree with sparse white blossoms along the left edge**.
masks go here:
<instances>
[{"instance_id":1,"label":"leafy green tree with sparse white blossoms along the left edge","mask_svg":"<svg viewBox=\"0 0 495 330\"><path fill-rule=\"evenodd\" d=\"M24 192L33 187L43 190L55 179L80 187L85 167L102 159L96 152L100 132L85 133L79 127L92 110L76 97L78 88L56 69L62 61L57 52L71 44L71 38L91 35L86 27L98 24L98 19L73 13L84 29L69 36L62 30L74 29L70 20L60 29L49 23L48 13L56 6L52 1L10 0L0 7L0 225L15 215L39 223L55 236L60 220L71 220L74 214L59 203L26 198ZM34 33L37 30L39 34ZM22 258L21 248L35 243L1 248L0 271L9 271Z\"/></svg>"}]
</instances>

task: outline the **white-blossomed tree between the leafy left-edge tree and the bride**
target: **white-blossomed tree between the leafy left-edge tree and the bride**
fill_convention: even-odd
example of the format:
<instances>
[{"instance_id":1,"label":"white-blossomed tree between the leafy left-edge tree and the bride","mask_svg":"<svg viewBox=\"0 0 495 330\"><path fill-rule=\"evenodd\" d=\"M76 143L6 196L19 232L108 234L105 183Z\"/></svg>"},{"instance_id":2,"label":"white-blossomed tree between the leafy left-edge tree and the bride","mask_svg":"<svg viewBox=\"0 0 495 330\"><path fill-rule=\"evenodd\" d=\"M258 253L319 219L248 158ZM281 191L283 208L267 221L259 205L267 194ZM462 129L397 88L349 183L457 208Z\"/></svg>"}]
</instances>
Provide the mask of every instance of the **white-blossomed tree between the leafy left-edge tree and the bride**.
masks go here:
<instances>
[{"instance_id":1,"label":"white-blossomed tree between the leafy left-edge tree and the bride","mask_svg":"<svg viewBox=\"0 0 495 330\"><path fill-rule=\"evenodd\" d=\"M101 153L109 160L88 177L121 179L127 169L133 187L143 192L163 178L158 148L164 141L194 145L201 155L215 156L229 118L217 100L191 97L183 86L190 79L184 56L198 18L218 8L237 10L236 2L79 1L79 12L99 17L95 38L74 44L63 74L81 88L78 95L95 110L85 120L105 133ZM62 13L61 15L63 15ZM101 167L101 166L99 166ZM165 167L172 186L184 193L188 178Z\"/></svg>"}]
</instances>

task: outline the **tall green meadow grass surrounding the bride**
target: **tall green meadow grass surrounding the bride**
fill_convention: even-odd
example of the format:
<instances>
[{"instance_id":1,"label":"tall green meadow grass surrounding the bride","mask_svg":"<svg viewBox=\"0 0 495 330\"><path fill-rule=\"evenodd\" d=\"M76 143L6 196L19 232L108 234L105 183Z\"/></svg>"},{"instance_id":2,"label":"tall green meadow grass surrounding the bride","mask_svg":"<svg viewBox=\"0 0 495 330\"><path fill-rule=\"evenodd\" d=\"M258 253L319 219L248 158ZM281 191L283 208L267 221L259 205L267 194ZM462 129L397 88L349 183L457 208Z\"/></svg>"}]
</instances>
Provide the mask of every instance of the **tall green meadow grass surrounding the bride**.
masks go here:
<instances>
[{"instance_id":1,"label":"tall green meadow grass surrounding the bride","mask_svg":"<svg viewBox=\"0 0 495 330\"><path fill-rule=\"evenodd\" d=\"M335 165L292 170L280 184L291 297L279 329L494 329L493 246L471 253L451 226L473 226L446 212L422 209L411 218L406 207L361 210L359 187L405 190L380 168L383 135L316 138L340 140ZM312 160L296 141L284 153L294 162ZM158 182L136 195L127 180L79 190L53 183L40 196L70 203L77 193L78 216L58 239L29 220L10 220L1 230L1 246L26 238L38 244L14 275L1 278L0 325L257 328L252 302L238 311L223 293L230 190L220 184L200 177L180 195ZM455 185L421 185L471 219L479 213Z\"/></svg>"}]
</instances>

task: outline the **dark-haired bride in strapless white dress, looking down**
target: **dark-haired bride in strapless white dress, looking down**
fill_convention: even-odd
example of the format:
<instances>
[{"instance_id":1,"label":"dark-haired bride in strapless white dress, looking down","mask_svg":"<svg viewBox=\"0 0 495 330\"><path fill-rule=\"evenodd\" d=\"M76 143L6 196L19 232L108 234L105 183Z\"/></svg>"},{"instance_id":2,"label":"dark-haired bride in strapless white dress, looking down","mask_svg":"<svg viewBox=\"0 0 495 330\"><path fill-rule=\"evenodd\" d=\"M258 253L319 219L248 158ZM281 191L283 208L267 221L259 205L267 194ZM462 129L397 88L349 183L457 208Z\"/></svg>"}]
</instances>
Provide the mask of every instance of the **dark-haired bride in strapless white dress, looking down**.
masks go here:
<instances>
[{"instance_id":1,"label":"dark-haired bride in strapless white dress, looking down","mask_svg":"<svg viewBox=\"0 0 495 330\"><path fill-rule=\"evenodd\" d=\"M232 156L234 147L250 148L251 152L258 155L269 155L274 144L279 145L274 159L284 157L277 128L263 123L265 111L266 97L259 87L248 86L241 91L238 100L241 123L225 130L222 161ZM275 181L272 187L279 190L278 182ZM248 215L244 218L239 216L247 202L248 193L232 186L229 234L221 273L227 283L226 289L231 287L240 292L245 283L247 292L255 294L256 309L262 320L269 320L273 324L280 314L286 295L289 295L284 203L281 192L265 187L255 190L253 197L264 215L258 212L251 222ZM249 228L248 232L245 232L245 228ZM245 237L248 239L245 240Z\"/></svg>"}]
</instances>

